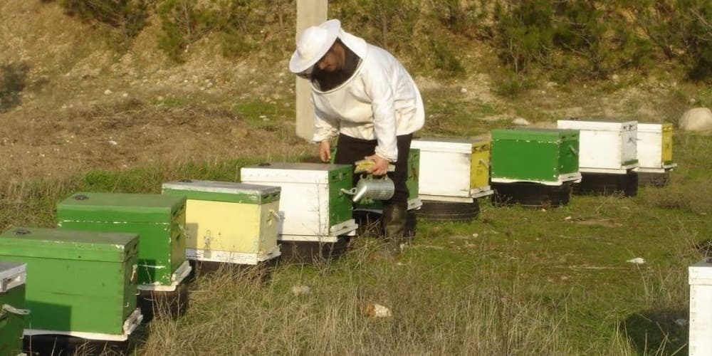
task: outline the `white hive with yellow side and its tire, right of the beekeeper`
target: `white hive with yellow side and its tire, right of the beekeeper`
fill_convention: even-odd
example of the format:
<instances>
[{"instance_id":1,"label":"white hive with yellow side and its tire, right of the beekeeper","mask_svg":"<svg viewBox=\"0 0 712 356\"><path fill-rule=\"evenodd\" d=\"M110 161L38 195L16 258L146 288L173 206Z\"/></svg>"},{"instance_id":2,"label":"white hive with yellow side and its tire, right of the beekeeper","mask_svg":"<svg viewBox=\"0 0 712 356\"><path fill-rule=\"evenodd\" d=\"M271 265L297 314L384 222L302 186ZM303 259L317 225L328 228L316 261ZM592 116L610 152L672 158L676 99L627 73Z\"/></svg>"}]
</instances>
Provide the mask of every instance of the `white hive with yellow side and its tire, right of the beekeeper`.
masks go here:
<instances>
[{"instance_id":1,"label":"white hive with yellow side and its tire, right of the beekeeper","mask_svg":"<svg viewBox=\"0 0 712 356\"><path fill-rule=\"evenodd\" d=\"M493 193L489 185L490 141L420 138L418 216L436 221L467 221L477 216L477 198Z\"/></svg>"}]
</instances>

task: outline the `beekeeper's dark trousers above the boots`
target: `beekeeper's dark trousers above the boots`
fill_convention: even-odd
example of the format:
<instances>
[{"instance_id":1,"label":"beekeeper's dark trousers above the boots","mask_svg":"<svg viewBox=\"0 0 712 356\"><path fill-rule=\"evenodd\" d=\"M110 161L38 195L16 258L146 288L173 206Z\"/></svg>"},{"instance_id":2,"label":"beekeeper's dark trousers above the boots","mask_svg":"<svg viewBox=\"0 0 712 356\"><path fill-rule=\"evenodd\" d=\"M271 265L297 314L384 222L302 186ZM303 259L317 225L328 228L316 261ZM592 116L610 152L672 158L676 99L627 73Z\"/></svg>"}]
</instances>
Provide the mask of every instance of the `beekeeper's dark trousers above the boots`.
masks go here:
<instances>
[{"instance_id":1,"label":"beekeeper's dark trousers above the boots","mask_svg":"<svg viewBox=\"0 0 712 356\"><path fill-rule=\"evenodd\" d=\"M410 142L413 140L413 134L397 136L398 160L395 163L395 172L388 172L388 177L393 180L395 192L389 200L384 200L383 204L407 203L408 202L408 154L410 152ZM376 140L360 140L347 135L339 135L339 141L336 144L336 157L334 163L337 164L353 164L356 161L363 159L366 156L373 155L378 142ZM359 174L355 174L354 186Z\"/></svg>"}]
</instances>

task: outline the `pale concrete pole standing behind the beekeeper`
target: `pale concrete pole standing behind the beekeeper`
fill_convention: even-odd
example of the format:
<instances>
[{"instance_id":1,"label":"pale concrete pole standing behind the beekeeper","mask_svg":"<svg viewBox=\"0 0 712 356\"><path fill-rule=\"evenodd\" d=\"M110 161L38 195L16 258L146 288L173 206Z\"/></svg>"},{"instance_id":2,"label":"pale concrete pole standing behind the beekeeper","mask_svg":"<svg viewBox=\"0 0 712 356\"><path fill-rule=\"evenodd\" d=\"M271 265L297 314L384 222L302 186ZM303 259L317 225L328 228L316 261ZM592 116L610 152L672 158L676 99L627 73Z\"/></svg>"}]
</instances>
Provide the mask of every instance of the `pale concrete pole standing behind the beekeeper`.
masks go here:
<instances>
[{"instance_id":1,"label":"pale concrete pole standing behind the beekeeper","mask_svg":"<svg viewBox=\"0 0 712 356\"><path fill-rule=\"evenodd\" d=\"M297 36L305 28L326 21L327 0L297 0ZM297 78L296 92L296 127L297 136L311 141L314 133L314 108L310 102L311 85L309 80Z\"/></svg>"}]
</instances>

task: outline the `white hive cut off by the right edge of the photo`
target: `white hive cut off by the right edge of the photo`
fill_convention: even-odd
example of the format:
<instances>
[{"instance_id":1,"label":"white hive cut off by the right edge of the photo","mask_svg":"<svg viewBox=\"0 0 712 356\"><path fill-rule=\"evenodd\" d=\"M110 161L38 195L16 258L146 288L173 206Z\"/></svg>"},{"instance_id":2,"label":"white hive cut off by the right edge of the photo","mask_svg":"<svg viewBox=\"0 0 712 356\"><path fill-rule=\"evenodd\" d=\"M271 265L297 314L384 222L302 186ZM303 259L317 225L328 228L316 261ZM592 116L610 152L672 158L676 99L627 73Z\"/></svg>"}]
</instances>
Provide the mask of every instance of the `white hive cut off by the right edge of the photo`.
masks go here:
<instances>
[{"instance_id":1,"label":"white hive cut off by the right edge of the photo","mask_svg":"<svg viewBox=\"0 0 712 356\"><path fill-rule=\"evenodd\" d=\"M712 350L712 260L689 267L690 340L689 355L709 355Z\"/></svg>"}]
</instances>

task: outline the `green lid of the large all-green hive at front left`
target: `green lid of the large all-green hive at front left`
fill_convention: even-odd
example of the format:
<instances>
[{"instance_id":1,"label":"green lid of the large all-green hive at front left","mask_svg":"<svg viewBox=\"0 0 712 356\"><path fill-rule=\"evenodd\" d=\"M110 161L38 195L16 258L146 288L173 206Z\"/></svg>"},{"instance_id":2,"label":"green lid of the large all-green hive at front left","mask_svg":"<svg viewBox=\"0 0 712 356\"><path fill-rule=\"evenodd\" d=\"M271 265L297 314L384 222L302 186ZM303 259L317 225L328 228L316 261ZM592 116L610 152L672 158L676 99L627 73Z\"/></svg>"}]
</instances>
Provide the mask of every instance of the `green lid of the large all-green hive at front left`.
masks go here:
<instances>
[{"instance_id":1,"label":"green lid of the large all-green hive at front left","mask_svg":"<svg viewBox=\"0 0 712 356\"><path fill-rule=\"evenodd\" d=\"M18 226L0 234L0 256L125 261L137 244L137 234Z\"/></svg>"}]
</instances>

